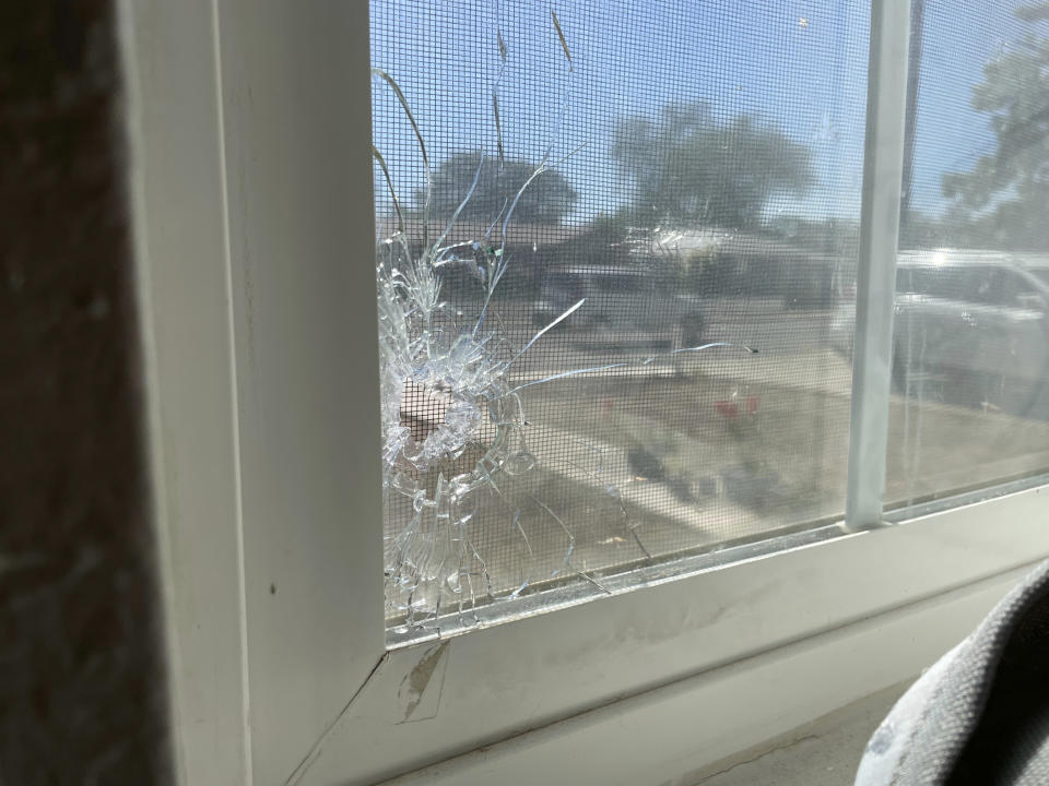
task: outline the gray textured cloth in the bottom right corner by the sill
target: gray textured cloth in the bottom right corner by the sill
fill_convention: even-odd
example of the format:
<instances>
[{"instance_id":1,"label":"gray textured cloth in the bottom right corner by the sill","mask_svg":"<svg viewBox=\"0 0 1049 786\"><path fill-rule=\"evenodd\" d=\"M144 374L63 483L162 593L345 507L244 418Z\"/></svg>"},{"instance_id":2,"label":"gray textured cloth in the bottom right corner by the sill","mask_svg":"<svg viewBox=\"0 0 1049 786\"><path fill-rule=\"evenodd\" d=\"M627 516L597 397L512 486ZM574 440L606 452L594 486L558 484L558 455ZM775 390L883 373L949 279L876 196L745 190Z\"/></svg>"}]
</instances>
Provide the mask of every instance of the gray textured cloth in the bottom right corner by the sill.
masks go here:
<instances>
[{"instance_id":1,"label":"gray textured cloth in the bottom right corner by the sill","mask_svg":"<svg viewBox=\"0 0 1049 786\"><path fill-rule=\"evenodd\" d=\"M1049 785L1049 561L896 703L856 786Z\"/></svg>"}]
</instances>

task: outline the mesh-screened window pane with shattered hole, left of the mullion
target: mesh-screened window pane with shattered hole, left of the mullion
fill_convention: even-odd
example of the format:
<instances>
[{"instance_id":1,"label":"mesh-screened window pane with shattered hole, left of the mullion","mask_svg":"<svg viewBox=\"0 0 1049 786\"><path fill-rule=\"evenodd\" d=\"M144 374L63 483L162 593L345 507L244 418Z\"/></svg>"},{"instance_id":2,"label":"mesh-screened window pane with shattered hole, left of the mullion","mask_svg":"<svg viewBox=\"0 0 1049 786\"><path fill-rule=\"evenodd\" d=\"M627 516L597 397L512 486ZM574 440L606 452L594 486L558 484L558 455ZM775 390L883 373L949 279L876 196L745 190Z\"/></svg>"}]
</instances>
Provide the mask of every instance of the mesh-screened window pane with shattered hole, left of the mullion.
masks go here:
<instances>
[{"instance_id":1,"label":"mesh-screened window pane with shattered hole, left of the mullion","mask_svg":"<svg viewBox=\"0 0 1049 786\"><path fill-rule=\"evenodd\" d=\"M391 624L840 517L868 36L372 3Z\"/></svg>"}]
</instances>

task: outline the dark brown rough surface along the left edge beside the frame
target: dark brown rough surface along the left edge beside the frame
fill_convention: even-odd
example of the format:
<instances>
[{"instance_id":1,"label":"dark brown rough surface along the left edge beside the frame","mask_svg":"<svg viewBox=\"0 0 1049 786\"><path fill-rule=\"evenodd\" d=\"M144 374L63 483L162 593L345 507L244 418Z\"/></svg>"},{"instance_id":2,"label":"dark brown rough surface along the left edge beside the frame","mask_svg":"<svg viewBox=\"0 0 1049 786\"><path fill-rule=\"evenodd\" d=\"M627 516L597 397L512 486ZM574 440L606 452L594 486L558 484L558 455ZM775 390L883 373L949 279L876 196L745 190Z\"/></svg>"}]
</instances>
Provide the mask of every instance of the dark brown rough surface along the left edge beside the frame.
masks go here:
<instances>
[{"instance_id":1,"label":"dark brown rough surface along the left edge beside the frame","mask_svg":"<svg viewBox=\"0 0 1049 786\"><path fill-rule=\"evenodd\" d=\"M0 2L0 784L169 779L111 0Z\"/></svg>"}]
</instances>

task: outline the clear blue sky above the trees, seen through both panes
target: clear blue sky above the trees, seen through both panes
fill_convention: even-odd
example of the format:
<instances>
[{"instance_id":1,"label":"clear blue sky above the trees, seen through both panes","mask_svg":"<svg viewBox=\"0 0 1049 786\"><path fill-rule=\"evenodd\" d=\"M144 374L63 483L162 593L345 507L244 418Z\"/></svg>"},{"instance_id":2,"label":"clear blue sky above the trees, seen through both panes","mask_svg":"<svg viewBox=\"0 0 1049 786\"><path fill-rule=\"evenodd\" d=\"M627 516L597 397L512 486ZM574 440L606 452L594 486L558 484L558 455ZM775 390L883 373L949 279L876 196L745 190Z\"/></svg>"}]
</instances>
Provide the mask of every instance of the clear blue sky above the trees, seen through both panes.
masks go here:
<instances>
[{"instance_id":1,"label":"clear blue sky above the trees, seen through both panes","mask_svg":"<svg viewBox=\"0 0 1049 786\"><path fill-rule=\"evenodd\" d=\"M993 150L988 117L970 107L983 64L1025 29L1016 2L927 2L914 204L943 205L940 179ZM575 63L550 17L554 8ZM499 83L507 156L538 160L585 144L558 168L579 193L570 222L628 202L632 183L609 148L616 119L657 118L668 103L704 100L724 118L747 112L809 145L816 182L766 212L857 218L862 178L869 7L800 2L497 2L373 0L373 63L406 94L434 164L463 150L495 151L491 92ZM565 102L568 85L567 104ZM401 199L422 183L417 145L392 93L373 85L375 141ZM567 109L562 111L562 107ZM558 118L562 118L558 124ZM377 195L385 186L376 181Z\"/></svg>"}]
</instances>

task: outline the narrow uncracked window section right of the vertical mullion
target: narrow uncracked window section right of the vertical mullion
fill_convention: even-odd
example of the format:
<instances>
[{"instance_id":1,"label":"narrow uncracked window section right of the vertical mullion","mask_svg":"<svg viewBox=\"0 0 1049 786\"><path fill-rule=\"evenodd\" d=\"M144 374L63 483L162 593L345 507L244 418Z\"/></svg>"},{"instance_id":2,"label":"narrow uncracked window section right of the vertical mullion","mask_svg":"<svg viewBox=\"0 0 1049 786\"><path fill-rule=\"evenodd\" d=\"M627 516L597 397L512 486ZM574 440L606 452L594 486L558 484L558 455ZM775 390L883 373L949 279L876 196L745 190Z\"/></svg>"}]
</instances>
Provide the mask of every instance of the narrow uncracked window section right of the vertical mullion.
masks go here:
<instances>
[{"instance_id":1,"label":"narrow uncracked window section right of the vertical mullion","mask_svg":"<svg viewBox=\"0 0 1049 786\"><path fill-rule=\"evenodd\" d=\"M1049 7L916 0L911 36L894 507L1049 468Z\"/></svg>"}]
</instances>

